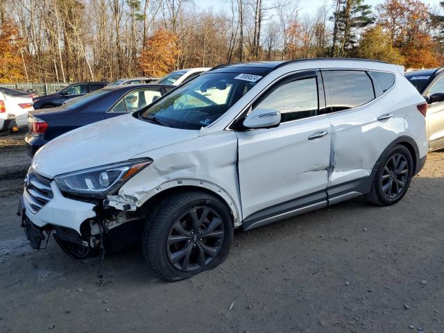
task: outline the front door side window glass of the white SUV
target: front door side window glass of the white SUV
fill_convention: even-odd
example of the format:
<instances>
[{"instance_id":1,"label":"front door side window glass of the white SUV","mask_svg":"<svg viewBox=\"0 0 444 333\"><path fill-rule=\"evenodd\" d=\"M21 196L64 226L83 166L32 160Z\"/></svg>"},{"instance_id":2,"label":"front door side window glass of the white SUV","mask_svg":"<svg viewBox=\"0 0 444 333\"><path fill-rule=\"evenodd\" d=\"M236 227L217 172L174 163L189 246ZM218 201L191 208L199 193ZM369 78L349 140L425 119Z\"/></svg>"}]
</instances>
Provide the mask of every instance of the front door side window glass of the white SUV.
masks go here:
<instances>
[{"instance_id":1,"label":"front door side window glass of the white SUV","mask_svg":"<svg viewBox=\"0 0 444 333\"><path fill-rule=\"evenodd\" d=\"M302 78L271 88L255 109L271 109L281 113L281 121L315 116L318 111L316 78Z\"/></svg>"}]
</instances>

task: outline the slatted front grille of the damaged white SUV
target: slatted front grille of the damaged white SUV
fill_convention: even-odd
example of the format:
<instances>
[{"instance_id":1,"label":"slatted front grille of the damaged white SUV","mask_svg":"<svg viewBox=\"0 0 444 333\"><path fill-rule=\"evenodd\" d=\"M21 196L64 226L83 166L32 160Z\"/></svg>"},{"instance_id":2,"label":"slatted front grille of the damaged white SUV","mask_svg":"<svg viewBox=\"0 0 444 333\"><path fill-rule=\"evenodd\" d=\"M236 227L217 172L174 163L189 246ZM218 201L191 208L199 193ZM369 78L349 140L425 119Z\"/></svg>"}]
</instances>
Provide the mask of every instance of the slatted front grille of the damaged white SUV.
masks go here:
<instances>
[{"instance_id":1,"label":"slatted front grille of the damaged white SUV","mask_svg":"<svg viewBox=\"0 0 444 333\"><path fill-rule=\"evenodd\" d=\"M37 213L53 198L51 180L31 171L25 178L24 198L28 210Z\"/></svg>"}]
</instances>

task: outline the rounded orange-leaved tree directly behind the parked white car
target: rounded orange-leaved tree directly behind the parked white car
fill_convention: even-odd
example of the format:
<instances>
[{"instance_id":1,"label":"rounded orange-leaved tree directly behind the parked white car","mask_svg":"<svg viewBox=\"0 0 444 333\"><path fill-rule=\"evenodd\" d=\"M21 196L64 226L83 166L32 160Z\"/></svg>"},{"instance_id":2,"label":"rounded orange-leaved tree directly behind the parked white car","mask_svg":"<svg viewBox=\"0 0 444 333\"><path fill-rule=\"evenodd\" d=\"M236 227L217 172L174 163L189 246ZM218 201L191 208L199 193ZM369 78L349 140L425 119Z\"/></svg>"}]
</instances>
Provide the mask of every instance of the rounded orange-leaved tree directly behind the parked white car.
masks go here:
<instances>
[{"instance_id":1,"label":"rounded orange-leaved tree directly behind the parked white car","mask_svg":"<svg viewBox=\"0 0 444 333\"><path fill-rule=\"evenodd\" d=\"M166 29L158 29L146 39L139 56L139 67L144 75L164 76L174 69L178 56L178 37Z\"/></svg>"}]
</instances>

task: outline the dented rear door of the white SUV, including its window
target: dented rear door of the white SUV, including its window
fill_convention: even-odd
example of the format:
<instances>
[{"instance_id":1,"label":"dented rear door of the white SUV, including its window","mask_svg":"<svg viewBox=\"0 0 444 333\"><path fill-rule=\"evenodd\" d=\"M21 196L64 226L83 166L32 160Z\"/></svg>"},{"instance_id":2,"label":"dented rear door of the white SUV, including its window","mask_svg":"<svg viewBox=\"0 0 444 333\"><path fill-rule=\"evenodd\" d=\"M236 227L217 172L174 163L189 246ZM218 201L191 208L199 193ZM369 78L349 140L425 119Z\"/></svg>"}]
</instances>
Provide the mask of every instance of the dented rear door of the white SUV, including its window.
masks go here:
<instances>
[{"instance_id":1,"label":"dented rear door of the white SUV, including its window","mask_svg":"<svg viewBox=\"0 0 444 333\"><path fill-rule=\"evenodd\" d=\"M395 82L394 74L355 69L322 74L332 124L327 192L334 198L348 195L369 179L382 151L397 137L395 128L404 125L403 115L391 110L390 98L384 95Z\"/></svg>"}]
</instances>

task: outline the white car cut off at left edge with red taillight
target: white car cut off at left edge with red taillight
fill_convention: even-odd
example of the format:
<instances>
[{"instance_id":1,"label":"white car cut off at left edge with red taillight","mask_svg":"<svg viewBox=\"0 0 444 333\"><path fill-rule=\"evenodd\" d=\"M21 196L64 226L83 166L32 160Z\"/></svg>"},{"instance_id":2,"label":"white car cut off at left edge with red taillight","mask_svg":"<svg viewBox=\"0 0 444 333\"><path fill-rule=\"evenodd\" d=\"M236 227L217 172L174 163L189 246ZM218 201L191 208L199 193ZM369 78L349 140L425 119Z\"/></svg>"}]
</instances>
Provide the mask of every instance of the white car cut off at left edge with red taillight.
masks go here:
<instances>
[{"instance_id":1,"label":"white car cut off at left edge with red taillight","mask_svg":"<svg viewBox=\"0 0 444 333\"><path fill-rule=\"evenodd\" d=\"M33 99L16 89L0 87L0 110L12 114L19 128L28 126L28 111L33 109Z\"/></svg>"}]
</instances>

